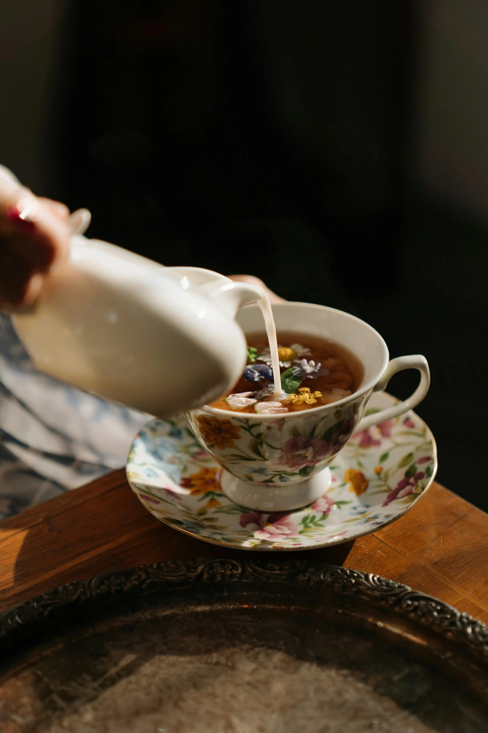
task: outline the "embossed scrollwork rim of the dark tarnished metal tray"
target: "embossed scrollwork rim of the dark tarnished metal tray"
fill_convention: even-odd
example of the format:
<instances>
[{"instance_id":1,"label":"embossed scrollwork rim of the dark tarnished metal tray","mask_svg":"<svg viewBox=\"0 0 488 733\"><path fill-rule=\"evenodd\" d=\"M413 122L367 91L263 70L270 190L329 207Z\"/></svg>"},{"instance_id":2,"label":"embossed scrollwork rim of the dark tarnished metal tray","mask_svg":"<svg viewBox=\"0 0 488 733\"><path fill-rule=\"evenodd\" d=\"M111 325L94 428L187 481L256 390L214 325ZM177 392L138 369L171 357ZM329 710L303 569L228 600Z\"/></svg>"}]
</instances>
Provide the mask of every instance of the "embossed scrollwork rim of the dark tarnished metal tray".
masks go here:
<instances>
[{"instance_id":1,"label":"embossed scrollwork rim of the dark tarnished metal tray","mask_svg":"<svg viewBox=\"0 0 488 733\"><path fill-rule=\"evenodd\" d=\"M255 589L272 595L275 583L307 589L307 597L312 602L318 599L312 589L326 589L337 600L359 600L392 612L416 625L418 630L427 627L446 641L457 642L488 671L488 628L472 616L380 575L301 560L198 558L107 572L89 580L67 583L0 614L0 647L28 635L31 627L47 622L53 611L70 610L74 604L84 606L170 589L197 593L223 591L222 600L229 589L246 593Z\"/></svg>"}]
</instances>

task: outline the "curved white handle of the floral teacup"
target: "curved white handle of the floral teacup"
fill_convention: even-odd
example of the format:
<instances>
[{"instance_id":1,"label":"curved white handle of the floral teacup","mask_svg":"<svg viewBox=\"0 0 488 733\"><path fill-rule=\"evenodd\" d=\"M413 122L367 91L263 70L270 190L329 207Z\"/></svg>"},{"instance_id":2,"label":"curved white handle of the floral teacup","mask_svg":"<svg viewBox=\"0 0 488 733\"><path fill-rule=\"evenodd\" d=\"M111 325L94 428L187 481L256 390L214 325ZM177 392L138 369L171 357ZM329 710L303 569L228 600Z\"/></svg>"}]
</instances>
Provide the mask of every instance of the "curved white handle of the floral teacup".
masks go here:
<instances>
[{"instance_id":1,"label":"curved white handle of the floral teacup","mask_svg":"<svg viewBox=\"0 0 488 733\"><path fill-rule=\"evenodd\" d=\"M380 422L398 417L399 415L402 415L402 413L407 412L407 410L415 408L418 403L424 399L425 395L429 391L430 372L427 359L425 356L421 356L421 354L416 354L414 356L397 356L397 358L388 361L386 369L378 380L374 391L382 392L383 389L386 389L391 377L393 377L394 374L397 374L397 372L403 372L404 369L418 369L420 372L420 384L416 388L416 391L411 394L408 399L405 399L403 402L399 402L398 405L394 405L393 408L380 410L378 413L372 413L372 415L364 417L356 426L357 432L360 430L366 430L368 427L372 427L372 425L378 425Z\"/></svg>"}]
</instances>

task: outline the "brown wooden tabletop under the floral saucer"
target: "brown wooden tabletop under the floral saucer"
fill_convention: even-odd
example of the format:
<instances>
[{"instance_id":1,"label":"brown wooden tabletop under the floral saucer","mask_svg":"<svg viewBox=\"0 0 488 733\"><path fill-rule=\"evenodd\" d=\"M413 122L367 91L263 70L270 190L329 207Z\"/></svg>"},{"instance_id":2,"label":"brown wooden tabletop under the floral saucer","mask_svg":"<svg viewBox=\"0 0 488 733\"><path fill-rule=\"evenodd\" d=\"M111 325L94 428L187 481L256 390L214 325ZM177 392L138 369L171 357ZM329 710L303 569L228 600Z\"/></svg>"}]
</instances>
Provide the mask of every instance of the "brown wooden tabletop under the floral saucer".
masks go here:
<instances>
[{"instance_id":1,"label":"brown wooden tabletop under the floral saucer","mask_svg":"<svg viewBox=\"0 0 488 733\"><path fill-rule=\"evenodd\" d=\"M154 519L124 471L0 522L0 611L100 572L229 550ZM407 515L367 537L292 557L378 573L488 622L488 515L438 484Z\"/></svg>"}]
</instances>

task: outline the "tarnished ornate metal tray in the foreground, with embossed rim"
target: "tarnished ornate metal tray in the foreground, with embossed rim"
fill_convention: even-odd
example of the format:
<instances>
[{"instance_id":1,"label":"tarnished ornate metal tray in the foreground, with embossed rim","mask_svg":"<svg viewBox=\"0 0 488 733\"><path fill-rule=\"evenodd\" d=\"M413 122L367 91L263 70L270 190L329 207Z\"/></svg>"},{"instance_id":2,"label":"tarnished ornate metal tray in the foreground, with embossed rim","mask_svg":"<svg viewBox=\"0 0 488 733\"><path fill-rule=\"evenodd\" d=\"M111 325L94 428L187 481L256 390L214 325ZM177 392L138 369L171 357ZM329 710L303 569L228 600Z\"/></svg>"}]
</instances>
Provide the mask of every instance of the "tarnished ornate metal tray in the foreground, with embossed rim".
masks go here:
<instances>
[{"instance_id":1,"label":"tarnished ornate metal tray in the foreground, with embossed rim","mask_svg":"<svg viewBox=\"0 0 488 733\"><path fill-rule=\"evenodd\" d=\"M5 733L488 731L488 630L394 581L196 559L0 616Z\"/></svg>"}]
</instances>

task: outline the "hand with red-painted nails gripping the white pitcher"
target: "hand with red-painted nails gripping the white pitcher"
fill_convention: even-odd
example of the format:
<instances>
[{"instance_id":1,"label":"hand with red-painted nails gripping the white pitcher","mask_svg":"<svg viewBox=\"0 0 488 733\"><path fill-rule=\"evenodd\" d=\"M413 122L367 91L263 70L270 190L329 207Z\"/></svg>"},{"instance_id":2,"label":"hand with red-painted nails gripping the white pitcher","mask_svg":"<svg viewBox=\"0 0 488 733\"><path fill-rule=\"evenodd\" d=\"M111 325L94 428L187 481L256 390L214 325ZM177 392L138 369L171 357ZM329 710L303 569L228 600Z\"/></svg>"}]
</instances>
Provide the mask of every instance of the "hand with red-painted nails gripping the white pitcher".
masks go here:
<instances>
[{"instance_id":1,"label":"hand with red-painted nails gripping the white pitcher","mask_svg":"<svg viewBox=\"0 0 488 733\"><path fill-rule=\"evenodd\" d=\"M70 210L24 188L0 166L0 308L28 306L68 251Z\"/></svg>"}]
</instances>

